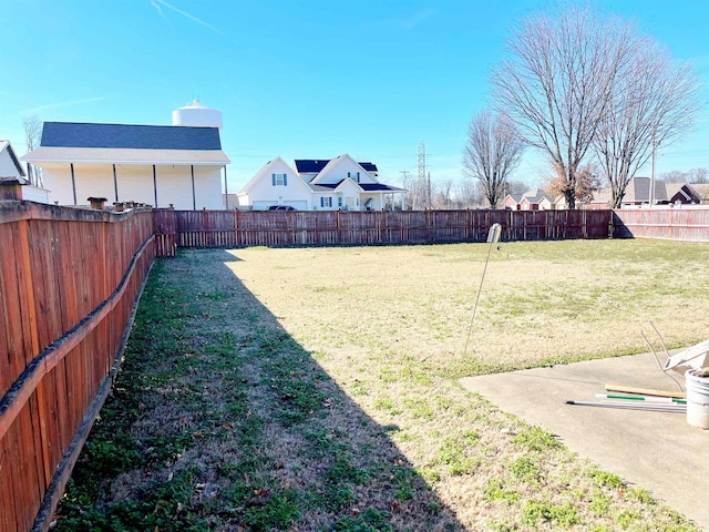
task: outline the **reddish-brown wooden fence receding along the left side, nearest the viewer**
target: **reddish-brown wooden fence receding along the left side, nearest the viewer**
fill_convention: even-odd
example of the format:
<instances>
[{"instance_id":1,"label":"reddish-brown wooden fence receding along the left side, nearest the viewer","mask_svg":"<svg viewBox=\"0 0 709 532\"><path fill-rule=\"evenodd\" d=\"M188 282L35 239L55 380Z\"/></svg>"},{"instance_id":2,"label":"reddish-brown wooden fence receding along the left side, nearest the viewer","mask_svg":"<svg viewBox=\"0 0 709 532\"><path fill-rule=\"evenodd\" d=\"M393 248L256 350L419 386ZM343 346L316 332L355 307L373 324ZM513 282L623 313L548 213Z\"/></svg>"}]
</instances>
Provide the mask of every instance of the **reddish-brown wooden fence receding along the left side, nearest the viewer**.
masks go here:
<instances>
[{"instance_id":1,"label":"reddish-brown wooden fence receding along the left side, nearest the viewer","mask_svg":"<svg viewBox=\"0 0 709 532\"><path fill-rule=\"evenodd\" d=\"M0 530L47 530L155 255L150 211L0 202Z\"/></svg>"}]
</instances>

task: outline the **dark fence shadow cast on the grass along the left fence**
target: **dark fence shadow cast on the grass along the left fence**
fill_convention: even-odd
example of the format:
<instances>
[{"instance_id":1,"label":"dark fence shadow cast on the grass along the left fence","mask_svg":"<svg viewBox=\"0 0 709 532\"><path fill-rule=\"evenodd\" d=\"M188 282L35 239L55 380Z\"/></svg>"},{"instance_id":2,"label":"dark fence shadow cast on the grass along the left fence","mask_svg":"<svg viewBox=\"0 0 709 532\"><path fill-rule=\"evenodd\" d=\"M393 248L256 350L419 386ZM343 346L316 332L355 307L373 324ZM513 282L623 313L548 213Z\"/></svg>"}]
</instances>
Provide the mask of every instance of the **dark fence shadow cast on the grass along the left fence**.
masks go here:
<instances>
[{"instance_id":1,"label":"dark fence shadow cast on the grass along the left fence","mask_svg":"<svg viewBox=\"0 0 709 532\"><path fill-rule=\"evenodd\" d=\"M235 260L156 263L54 530L461 530Z\"/></svg>"}]
</instances>

